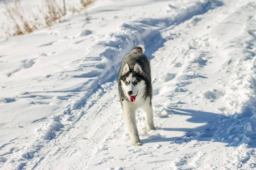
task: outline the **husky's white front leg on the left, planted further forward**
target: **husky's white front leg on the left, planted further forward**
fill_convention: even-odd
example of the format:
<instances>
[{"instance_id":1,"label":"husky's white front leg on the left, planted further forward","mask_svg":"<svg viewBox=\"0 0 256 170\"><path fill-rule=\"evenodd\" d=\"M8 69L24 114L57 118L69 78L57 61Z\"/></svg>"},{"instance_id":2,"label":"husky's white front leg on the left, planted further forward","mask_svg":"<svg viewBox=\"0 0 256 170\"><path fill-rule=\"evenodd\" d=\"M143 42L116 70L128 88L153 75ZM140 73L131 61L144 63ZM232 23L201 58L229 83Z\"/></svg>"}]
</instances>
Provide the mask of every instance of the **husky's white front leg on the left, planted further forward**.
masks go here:
<instances>
[{"instance_id":1,"label":"husky's white front leg on the left, planted further forward","mask_svg":"<svg viewBox=\"0 0 256 170\"><path fill-rule=\"evenodd\" d=\"M136 109L129 106L129 104L126 102L127 101L124 101L123 103L123 116L125 118L125 124L129 131L131 144L133 146L139 146L139 145L142 145L142 143L141 143L141 140L139 139L139 133L136 125L136 117L135 117Z\"/></svg>"}]
</instances>

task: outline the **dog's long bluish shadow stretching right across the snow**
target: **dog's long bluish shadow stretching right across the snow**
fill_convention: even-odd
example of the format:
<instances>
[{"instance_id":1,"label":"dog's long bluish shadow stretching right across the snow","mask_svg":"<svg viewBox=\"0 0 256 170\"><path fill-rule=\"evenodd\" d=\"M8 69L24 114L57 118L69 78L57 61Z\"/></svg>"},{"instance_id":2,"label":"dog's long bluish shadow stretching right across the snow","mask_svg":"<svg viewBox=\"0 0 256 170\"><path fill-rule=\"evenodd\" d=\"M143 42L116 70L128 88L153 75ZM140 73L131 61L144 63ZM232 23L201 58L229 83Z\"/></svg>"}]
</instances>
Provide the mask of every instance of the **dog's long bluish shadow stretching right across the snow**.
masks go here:
<instances>
[{"instance_id":1,"label":"dog's long bluish shadow stretching right across the snow","mask_svg":"<svg viewBox=\"0 0 256 170\"><path fill-rule=\"evenodd\" d=\"M250 147L256 147L256 135L246 132L246 123L250 122L250 117L234 118L224 116L223 114L195 111L191 109L169 108L170 114L191 116L186 121L189 123L203 124L197 128L168 128L161 127L156 130L164 131L184 131L182 137L168 137L162 135L148 137L143 139L143 143L152 142L170 142L170 143L188 143L192 140L222 142L226 146L239 146L247 143ZM166 118L166 117L164 117ZM168 117L174 118L174 116ZM186 122L184 121L184 124ZM189 126L189 125L188 125ZM172 125L173 127L173 125Z\"/></svg>"}]
</instances>

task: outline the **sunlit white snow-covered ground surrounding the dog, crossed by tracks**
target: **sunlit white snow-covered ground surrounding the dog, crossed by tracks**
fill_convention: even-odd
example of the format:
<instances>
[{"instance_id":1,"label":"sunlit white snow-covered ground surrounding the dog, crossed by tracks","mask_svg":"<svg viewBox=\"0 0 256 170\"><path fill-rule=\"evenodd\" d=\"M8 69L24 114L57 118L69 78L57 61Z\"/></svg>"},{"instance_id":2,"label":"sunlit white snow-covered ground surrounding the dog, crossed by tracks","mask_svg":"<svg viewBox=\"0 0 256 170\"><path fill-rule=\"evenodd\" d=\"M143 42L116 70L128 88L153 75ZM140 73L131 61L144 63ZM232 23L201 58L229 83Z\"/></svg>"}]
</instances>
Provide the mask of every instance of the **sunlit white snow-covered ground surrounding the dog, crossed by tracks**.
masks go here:
<instances>
[{"instance_id":1,"label":"sunlit white snow-covered ground surrounding the dog, crossed by tracks","mask_svg":"<svg viewBox=\"0 0 256 170\"><path fill-rule=\"evenodd\" d=\"M256 168L256 2L98 0L0 40L1 169ZM117 73L143 44L156 130L131 146Z\"/></svg>"}]
</instances>

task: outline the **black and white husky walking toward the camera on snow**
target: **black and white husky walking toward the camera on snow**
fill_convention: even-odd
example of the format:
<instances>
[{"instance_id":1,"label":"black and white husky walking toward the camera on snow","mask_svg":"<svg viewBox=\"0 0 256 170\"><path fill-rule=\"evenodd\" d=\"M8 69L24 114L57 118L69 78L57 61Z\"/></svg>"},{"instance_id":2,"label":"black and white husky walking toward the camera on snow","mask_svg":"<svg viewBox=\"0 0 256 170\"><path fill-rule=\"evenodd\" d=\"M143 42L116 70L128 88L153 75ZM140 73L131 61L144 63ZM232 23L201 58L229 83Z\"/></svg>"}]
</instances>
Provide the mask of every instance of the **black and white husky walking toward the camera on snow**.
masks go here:
<instances>
[{"instance_id":1,"label":"black and white husky walking toward the camera on snow","mask_svg":"<svg viewBox=\"0 0 256 170\"><path fill-rule=\"evenodd\" d=\"M152 111L152 84L150 61L144 55L144 46L135 47L121 63L118 74L118 90L131 144L142 145L139 139L135 112L142 108L146 114L147 130L155 130Z\"/></svg>"}]
</instances>

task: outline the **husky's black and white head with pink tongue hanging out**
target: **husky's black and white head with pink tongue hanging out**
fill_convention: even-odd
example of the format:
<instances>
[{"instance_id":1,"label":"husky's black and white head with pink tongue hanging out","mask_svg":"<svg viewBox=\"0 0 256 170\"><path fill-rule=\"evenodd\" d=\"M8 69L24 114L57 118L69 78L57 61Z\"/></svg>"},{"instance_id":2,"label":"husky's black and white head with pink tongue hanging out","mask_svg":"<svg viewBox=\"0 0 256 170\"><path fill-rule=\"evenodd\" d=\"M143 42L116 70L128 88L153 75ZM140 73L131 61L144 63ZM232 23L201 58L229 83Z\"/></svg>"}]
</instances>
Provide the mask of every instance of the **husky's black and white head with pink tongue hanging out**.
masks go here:
<instances>
[{"instance_id":1,"label":"husky's black and white head with pink tongue hanging out","mask_svg":"<svg viewBox=\"0 0 256 170\"><path fill-rule=\"evenodd\" d=\"M121 84L124 94L131 102L143 96L145 81L142 68L138 63L135 63L133 68L126 63L122 71Z\"/></svg>"}]
</instances>

